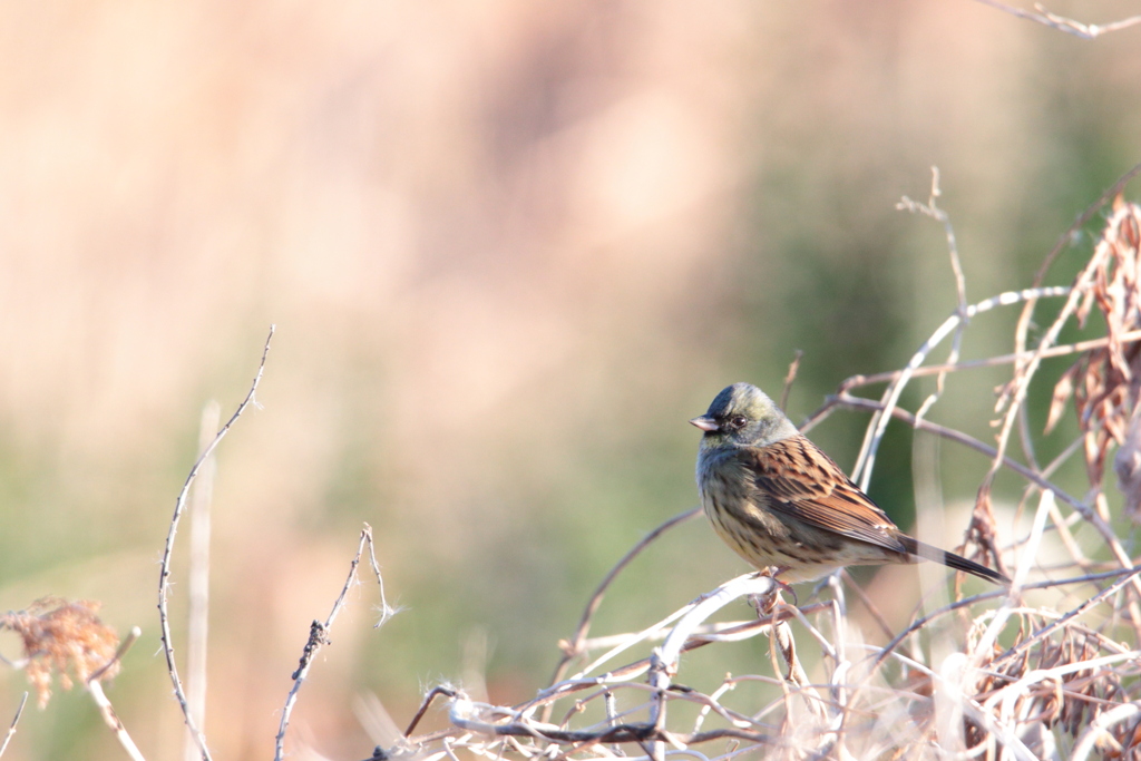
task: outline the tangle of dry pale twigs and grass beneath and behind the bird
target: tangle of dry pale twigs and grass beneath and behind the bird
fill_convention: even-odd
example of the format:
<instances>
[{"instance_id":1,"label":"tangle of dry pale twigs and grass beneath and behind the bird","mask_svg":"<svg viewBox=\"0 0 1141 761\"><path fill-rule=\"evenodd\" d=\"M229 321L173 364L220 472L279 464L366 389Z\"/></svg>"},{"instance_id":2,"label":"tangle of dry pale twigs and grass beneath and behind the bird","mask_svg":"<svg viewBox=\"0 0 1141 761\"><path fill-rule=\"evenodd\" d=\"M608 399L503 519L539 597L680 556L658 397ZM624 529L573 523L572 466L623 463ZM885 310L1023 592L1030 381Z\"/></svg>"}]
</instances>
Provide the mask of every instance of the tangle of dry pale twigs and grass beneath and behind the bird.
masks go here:
<instances>
[{"instance_id":1,"label":"tangle of dry pale twigs and grass beneath and behind the bird","mask_svg":"<svg viewBox=\"0 0 1141 761\"><path fill-rule=\"evenodd\" d=\"M779 602L756 621L709 623L728 601L769 591L768 580L743 576L640 632L589 637L609 583L661 533L696 515L687 512L652 533L607 576L575 635L561 643L565 657L555 680L535 698L519 705L491 705L471 699L462 689L437 687L405 737L394 747L378 748L377 758L414 755L435 761L454 759L461 751L489 759L933 759L962 758L963 753L1026 760L1092 754L1139 758L1141 568L1133 568L1128 540L1111 528L1122 521L1109 508L1104 484L1106 463L1114 458L1125 510L1135 518L1141 499L1136 413L1141 410L1141 208L1123 201L1119 189L1102 202L1111 199L1111 210L1073 285L1042 285L1055 254L1047 258L1037 282L1021 292L969 305L960 281L961 303L955 314L907 367L849 379L807 424L844 406L874 411L856 473L864 483L892 416L989 458L994 467L980 485L964 551L1011 570L1014 584L1009 591L963 597L961 580L956 580L953 601L916 616L885 645L875 645L849 616L847 596L859 590L845 588L839 577L831 580L831 600L800 608ZM947 225L958 273L954 234L936 205L937 197L936 185L929 203L905 200L905 204ZM1078 220L1075 229L1101 205ZM1045 298L1063 299L1065 306L1043 326L1036 345L1026 348L1035 305ZM971 317L1018 305L1025 309L1015 335L1019 351L960 361ZM1061 329L1071 322L1084 324L1094 309L1104 322L1106 335L1079 346L1059 346ZM930 355L947 338L954 345L949 359L930 363ZM1036 373L1043 357L1067 354L1076 359L1057 383L1049 427L1070 410L1077 415L1078 438L1061 458L1042 465L1034 460L1034 436L1026 424L1027 390L1042 382ZM926 421L945 383L953 382L956 373L1000 364L1011 365L1013 372L998 394L997 446ZM936 394L915 413L900 410L897 404L907 382L930 374L939 377ZM887 389L879 400L852 394L883 382ZM1022 452L1030 454L1022 461L1008 453L1015 432ZM1050 480L1077 453L1084 456L1089 477L1089 489L1081 495ZM1023 504L1034 509L1026 535L1015 534L1009 520L995 517L990 483L1003 470L1026 483ZM1078 524L1090 524L1100 534L1106 549L1097 554L1110 559L1083 552L1074 539ZM1059 541L1044 544L1050 535ZM1054 548L1065 548L1065 554ZM863 598L863 605L871 604ZM799 624L795 637L792 622ZM712 645L728 647L728 642L753 637L769 640L778 679L764 673L729 674L713 679L713 688L704 690L674 680L710 681L709 674L686 672L682 653ZM646 657L631 659L630 653L657 642ZM798 647L807 658L798 656ZM736 690L747 682L779 689L768 694L770 699L758 701L755 691ZM416 735L420 718L438 697L446 698L451 727ZM688 710L682 707L687 705Z\"/></svg>"}]
</instances>

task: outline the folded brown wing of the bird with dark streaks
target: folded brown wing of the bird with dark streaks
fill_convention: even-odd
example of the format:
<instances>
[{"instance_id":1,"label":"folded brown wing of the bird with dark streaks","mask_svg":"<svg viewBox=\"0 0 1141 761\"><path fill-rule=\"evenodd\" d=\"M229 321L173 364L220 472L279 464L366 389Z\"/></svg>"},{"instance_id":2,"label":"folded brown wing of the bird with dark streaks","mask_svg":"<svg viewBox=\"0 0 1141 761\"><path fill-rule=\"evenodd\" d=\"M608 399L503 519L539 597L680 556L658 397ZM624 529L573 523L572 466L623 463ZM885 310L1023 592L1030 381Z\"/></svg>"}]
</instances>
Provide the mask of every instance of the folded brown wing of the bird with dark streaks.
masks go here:
<instances>
[{"instance_id":1,"label":"folded brown wing of the bird with dark streaks","mask_svg":"<svg viewBox=\"0 0 1141 761\"><path fill-rule=\"evenodd\" d=\"M791 436L742 450L761 504L804 524L896 552L907 552L898 528L815 444Z\"/></svg>"}]
</instances>

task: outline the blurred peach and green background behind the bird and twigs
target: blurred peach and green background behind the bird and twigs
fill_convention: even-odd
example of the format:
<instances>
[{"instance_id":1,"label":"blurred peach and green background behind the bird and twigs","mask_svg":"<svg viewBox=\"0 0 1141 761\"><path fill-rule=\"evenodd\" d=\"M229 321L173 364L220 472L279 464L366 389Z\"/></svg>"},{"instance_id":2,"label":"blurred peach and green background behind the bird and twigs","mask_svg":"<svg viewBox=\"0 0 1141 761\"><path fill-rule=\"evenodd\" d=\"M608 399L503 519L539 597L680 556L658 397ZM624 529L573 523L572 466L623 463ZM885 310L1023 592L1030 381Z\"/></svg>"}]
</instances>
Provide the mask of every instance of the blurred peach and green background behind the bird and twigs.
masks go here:
<instances>
[{"instance_id":1,"label":"blurred peach and green background behind the bird and twigs","mask_svg":"<svg viewBox=\"0 0 1141 761\"><path fill-rule=\"evenodd\" d=\"M942 228L895 209L926 199L932 164L968 298L1030 284L1141 160L1139 34L1083 41L968 0L3 3L0 610L57 594L140 626L108 696L147 758L180 758L157 561L201 411L228 418L275 323L262 407L218 453L216 758L272 754L363 521L405 610L374 631L375 585L351 593L294 758L369 755L363 694L402 727L440 679L532 696L606 570L696 504L686 421L718 390L779 394L801 349L801 420L950 314ZM979 318L965 356L1012 350L1014 316ZM1006 377L956 379L932 416L992 440ZM812 436L850 468L866 421ZM912 444L892 429L872 486L905 527ZM952 545L987 462L939 456L931 539ZM744 569L689 523L594 631ZM861 576L873 596L885 577ZM767 662L762 645L701 657L718 679ZM3 726L24 689L0 667ZM57 690L7 758L123 756L87 696Z\"/></svg>"}]
</instances>

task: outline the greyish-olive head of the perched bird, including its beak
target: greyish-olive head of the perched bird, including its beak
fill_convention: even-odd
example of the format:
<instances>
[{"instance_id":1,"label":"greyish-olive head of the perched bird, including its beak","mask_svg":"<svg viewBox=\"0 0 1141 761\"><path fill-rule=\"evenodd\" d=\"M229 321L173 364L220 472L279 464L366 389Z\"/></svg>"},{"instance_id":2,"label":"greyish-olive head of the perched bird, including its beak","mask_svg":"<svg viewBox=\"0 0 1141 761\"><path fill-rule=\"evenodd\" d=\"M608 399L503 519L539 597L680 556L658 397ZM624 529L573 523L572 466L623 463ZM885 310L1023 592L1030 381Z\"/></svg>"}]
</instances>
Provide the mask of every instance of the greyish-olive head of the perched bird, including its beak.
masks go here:
<instances>
[{"instance_id":1,"label":"greyish-olive head of the perched bird, including its beak","mask_svg":"<svg viewBox=\"0 0 1141 761\"><path fill-rule=\"evenodd\" d=\"M796 427L764 391L751 383L726 387L709 411L689 421L705 431L702 448L768 446L796 435Z\"/></svg>"}]
</instances>

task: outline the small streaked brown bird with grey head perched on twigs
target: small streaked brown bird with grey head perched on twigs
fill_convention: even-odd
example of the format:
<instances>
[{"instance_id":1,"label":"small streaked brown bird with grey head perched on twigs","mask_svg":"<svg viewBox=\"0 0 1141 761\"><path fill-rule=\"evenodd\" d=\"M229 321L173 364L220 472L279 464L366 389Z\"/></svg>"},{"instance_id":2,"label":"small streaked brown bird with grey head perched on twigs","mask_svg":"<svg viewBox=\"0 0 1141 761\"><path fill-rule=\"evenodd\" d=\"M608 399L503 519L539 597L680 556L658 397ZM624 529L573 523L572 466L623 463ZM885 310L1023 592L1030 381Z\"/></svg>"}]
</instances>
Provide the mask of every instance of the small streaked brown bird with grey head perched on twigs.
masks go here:
<instances>
[{"instance_id":1,"label":"small streaked brown bird with grey head perched on twigs","mask_svg":"<svg viewBox=\"0 0 1141 761\"><path fill-rule=\"evenodd\" d=\"M1003 574L904 534L755 386L734 383L690 420L705 431L697 489L714 531L774 577L803 582L842 566L934 560L987 581Z\"/></svg>"}]
</instances>

